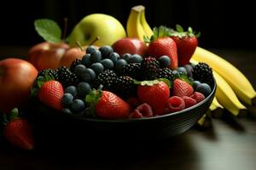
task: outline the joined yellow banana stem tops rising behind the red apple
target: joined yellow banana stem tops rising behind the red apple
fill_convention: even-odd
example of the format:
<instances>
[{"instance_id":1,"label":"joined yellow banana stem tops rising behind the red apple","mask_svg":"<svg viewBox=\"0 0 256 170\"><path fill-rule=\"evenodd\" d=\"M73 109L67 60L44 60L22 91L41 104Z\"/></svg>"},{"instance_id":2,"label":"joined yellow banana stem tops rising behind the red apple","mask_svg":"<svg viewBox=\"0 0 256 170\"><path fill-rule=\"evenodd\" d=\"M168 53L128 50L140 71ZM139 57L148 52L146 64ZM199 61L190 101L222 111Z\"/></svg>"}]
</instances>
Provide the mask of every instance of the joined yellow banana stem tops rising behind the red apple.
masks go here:
<instances>
[{"instance_id":1,"label":"joined yellow banana stem tops rising behind the red apple","mask_svg":"<svg viewBox=\"0 0 256 170\"><path fill-rule=\"evenodd\" d=\"M142 5L131 8L131 13L127 20L126 31L128 37L137 37L143 41L143 37L151 37L153 31L145 17L145 7Z\"/></svg>"}]
</instances>

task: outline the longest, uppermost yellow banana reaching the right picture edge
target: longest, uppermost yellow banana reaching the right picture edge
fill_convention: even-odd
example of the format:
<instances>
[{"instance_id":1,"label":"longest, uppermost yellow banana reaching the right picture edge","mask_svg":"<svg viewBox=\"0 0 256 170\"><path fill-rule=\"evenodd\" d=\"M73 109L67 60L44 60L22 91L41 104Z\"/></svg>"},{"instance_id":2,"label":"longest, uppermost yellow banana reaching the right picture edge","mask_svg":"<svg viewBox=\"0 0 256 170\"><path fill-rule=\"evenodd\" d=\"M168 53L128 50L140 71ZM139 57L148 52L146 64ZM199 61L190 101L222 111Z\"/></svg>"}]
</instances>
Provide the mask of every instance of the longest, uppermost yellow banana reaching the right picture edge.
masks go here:
<instances>
[{"instance_id":1,"label":"longest, uppermost yellow banana reaching the right picture edge","mask_svg":"<svg viewBox=\"0 0 256 170\"><path fill-rule=\"evenodd\" d=\"M214 71L217 71L218 74L230 84L230 87L241 101L245 102L247 105L252 105L253 100L256 99L256 92L252 84L247 80L247 77L234 65L231 65L227 60L200 47L195 49L192 59L210 65Z\"/></svg>"}]
</instances>

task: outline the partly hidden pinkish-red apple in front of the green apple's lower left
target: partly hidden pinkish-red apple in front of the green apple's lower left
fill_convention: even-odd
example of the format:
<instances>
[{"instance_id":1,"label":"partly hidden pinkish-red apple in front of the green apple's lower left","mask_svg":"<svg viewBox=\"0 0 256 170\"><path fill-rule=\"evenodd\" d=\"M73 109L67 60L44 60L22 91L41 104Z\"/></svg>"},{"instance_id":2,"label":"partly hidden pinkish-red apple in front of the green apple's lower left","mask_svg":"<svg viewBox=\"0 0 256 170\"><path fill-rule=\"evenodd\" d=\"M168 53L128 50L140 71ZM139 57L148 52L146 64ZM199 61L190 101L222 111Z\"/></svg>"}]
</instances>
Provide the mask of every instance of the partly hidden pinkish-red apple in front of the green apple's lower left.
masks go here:
<instances>
[{"instance_id":1,"label":"partly hidden pinkish-red apple in front of the green apple's lower left","mask_svg":"<svg viewBox=\"0 0 256 170\"><path fill-rule=\"evenodd\" d=\"M85 54L85 48L87 48L87 47L83 47L82 49L81 48L69 48L67 50L67 52L61 58L61 60L59 62L59 67L66 66L69 68L71 66L73 60L82 59L82 57Z\"/></svg>"}]
</instances>

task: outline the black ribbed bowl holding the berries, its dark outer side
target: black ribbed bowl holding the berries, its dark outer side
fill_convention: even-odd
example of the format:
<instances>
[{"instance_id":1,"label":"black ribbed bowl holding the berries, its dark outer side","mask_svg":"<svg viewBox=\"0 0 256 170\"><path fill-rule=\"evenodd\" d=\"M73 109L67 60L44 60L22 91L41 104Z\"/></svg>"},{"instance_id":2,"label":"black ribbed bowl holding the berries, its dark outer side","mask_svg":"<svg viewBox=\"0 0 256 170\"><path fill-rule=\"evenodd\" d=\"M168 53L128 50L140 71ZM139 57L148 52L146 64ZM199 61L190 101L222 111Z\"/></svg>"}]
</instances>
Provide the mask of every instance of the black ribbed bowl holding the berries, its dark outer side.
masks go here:
<instances>
[{"instance_id":1,"label":"black ribbed bowl holding the berries, its dark outer side","mask_svg":"<svg viewBox=\"0 0 256 170\"><path fill-rule=\"evenodd\" d=\"M41 144L73 144L80 146L96 141L141 141L168 139L184 133L193 127L212 103L216 82L212 93L206 99L183 111L149 118L102 120L72 116L55 111L32 100L27 117L32 122L36 139ZM37 143L36 143L37 144Z\"/></svg>"}]
</instances>

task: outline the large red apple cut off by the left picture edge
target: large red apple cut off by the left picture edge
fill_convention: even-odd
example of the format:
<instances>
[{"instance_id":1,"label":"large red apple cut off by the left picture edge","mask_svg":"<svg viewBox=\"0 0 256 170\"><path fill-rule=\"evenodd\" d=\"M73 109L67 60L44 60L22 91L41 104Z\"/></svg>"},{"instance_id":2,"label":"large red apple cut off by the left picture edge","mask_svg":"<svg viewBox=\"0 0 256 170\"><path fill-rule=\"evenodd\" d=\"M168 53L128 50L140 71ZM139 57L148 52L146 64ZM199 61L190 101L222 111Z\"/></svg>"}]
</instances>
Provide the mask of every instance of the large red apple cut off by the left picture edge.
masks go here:
<instances>
[{"instance_id":1,"label":"large red apple cut off by the left picture edge","mask_svg":"<svg viewBox=\"0 0 256 170\"><path fill-rule=\"evenodd\" d=\"M3 59L0 61L0 111L8 113L25 104L37 69L23 59Z\"/></svg>"}]
</instances>

